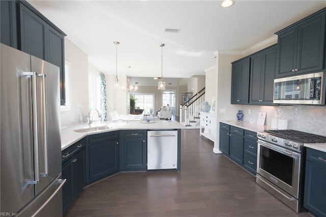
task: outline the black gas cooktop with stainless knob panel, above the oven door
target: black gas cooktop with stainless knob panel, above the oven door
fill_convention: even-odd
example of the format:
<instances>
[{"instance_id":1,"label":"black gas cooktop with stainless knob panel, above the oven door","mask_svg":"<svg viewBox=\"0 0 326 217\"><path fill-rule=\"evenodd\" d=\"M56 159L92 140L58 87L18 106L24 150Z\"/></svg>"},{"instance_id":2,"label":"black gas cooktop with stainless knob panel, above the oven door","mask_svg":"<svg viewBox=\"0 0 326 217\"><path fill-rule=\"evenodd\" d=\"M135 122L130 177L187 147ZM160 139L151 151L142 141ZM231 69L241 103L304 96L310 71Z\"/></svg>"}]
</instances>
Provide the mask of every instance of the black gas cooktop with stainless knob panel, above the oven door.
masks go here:
<instances>
[{"instance_id":1,"label":"black gas cooktop with stainless knob panel, above the oven door","mask_svg":"<svg viewBox=\"0 0 326 217\"><path fill-rule=\"evenodd\" d=\"M302 152L304 143L326 143L326 137L323 137L322 135L292 129L264 130L264 132L258 132L257 137L260 140L276 144L296 152Z\"/></svg>"}]
</instances>

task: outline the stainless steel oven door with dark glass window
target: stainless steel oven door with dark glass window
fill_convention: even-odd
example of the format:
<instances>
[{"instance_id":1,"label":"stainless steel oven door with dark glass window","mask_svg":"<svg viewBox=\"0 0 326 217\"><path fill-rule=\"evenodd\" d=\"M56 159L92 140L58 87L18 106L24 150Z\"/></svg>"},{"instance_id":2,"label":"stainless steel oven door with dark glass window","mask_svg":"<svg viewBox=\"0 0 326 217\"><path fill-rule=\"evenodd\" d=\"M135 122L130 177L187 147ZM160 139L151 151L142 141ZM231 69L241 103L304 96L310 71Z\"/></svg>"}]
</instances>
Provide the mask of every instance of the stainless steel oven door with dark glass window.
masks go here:
<instances>
[{"instance_id":1,"label":"stainless steel oven door with dark glass window","mask_svg":"<svg viewBox=\"0 0 326 217\"><path fill-rule=\"evenodd\" d=\"M296 199L301 160L301 153L258 140L257 173Z\"/></svg>"}]
</instances>

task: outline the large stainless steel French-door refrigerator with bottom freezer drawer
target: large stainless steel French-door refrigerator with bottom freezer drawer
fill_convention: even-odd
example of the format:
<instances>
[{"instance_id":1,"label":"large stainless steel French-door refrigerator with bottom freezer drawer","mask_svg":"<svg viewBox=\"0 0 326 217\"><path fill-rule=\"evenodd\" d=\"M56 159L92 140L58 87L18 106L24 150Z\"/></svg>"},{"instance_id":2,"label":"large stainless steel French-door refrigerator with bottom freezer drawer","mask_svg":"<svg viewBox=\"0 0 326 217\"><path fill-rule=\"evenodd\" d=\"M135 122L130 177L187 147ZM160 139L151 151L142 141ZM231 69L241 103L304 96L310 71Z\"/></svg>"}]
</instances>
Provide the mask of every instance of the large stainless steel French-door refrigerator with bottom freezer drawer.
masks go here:
<instances>
[{"instance_id":1,"label":"large stainless steel French-door refrigerator with bottom freezer drawer","mask_svg":"<svg viewBox=\"0 0 326 217\"><path fill-rule=\"evenodd\" d=\"M59 67L0 51L0 212L62 216Z\"/></svg>"}]
</instances>

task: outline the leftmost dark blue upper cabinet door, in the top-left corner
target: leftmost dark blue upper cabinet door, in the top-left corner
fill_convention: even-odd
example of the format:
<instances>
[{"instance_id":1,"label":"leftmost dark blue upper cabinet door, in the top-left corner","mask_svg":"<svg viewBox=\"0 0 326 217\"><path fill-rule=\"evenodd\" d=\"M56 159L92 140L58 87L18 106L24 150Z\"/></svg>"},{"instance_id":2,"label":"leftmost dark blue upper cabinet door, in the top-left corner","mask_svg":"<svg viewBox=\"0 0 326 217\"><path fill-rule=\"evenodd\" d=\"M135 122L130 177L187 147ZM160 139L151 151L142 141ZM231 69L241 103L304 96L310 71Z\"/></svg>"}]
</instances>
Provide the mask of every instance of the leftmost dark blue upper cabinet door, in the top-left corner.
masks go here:
<instances>
[{"instance_id":1,"label":"leftmost dark blue upper cabinet door, in the top-left corner","mask_svg":"<svg viewBox=\"0 0 326 217\"><path fill-rule=\"evenodd\" d=\"M0 1L0 4L0 42L17 49L16 2Z\"/></svg>"}]
</instances>

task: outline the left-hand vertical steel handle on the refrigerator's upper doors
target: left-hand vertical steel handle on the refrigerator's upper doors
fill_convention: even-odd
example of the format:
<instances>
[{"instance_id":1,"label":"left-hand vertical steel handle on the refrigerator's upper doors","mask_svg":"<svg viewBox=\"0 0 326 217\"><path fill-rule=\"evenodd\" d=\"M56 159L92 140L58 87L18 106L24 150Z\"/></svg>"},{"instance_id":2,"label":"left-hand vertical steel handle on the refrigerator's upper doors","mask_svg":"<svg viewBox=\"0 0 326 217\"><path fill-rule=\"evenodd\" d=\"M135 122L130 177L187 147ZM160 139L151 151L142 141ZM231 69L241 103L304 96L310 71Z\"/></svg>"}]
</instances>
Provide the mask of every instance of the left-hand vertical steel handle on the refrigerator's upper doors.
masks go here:
<instances>
[{"instance_id":1,"label":"left-hand vertical steel handle on the refrigerator's upper doors","mask_svg":"<svg viewBox=\"0 0 326 217\"><path fill-rule=\"evenodd\" d=\"M25 76L31 76L32 80L32 113L33 113L33 148L34 148L34 180L28 181L27 184L37 184L40 182L39 168L39 145L38 145L38 109L37 109L37 73L23 72Z\"/></svg>"}]
</instances>

